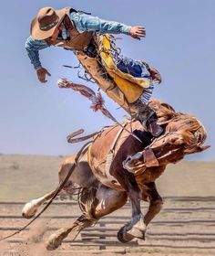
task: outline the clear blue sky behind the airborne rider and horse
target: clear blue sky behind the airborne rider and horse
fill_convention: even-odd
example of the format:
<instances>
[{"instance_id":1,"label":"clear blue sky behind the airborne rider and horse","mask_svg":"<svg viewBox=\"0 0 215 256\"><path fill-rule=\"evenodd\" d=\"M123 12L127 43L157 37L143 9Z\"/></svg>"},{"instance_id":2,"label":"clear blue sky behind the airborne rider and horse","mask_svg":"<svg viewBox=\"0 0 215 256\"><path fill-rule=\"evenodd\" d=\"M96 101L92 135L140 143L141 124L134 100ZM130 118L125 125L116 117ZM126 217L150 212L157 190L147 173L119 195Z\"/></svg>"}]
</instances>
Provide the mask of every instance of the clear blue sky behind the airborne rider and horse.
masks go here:
<instances>
[{"instance_id":1,"label":"clear blue sky behind the airborne rider and horse","mask_svg":"<svg viewBox=\"0 0 215 256\"><path fill-rule=\"evenodd\" d=\"M187 159L215 159L214 0L2 1L0 153L70 155L80 144L67 144L68 133L79 128L92 133L111 123L101 113L92 112L89 101L77 92L57 88L59 77L87 84L77 78L76 70L62 66L77 64L72 52L62 48L41 51L43 66L52 76L46 85L36 79L25 42L31 20L47 5L72 5L94 16L146 27L146 38L118 36L123 38L118 46L125 56L145 59L160 70L163 81L154 98L169 102L179 112L192 113L204 123L211 148ZM97 90L96 85L87 85ZM126 112L105 99L107 108L121 121Z\"/></svg>"}]
</instances>

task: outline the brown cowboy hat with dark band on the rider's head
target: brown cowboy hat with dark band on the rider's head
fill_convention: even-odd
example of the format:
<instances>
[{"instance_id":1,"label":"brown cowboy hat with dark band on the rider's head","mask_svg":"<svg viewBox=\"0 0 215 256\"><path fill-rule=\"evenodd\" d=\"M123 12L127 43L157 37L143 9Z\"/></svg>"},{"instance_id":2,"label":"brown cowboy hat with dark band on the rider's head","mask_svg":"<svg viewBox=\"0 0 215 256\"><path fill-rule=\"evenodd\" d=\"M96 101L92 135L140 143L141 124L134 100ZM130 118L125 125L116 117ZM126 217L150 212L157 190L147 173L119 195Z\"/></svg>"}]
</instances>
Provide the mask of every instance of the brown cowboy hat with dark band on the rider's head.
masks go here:
<instances>
[{"instance_id":1,"label":"brown cowboy hat with dark band on the rider's head","mask_svg":"<svg viewBox=\"0 0 215 256\"><path fill-rule=\"evenodd\" d=\"M31 23L31 36L34 39L51 37L66 15L67 8L55 10L52 7L44 7L40 9Z\"/></svg>"}]
</instances>

